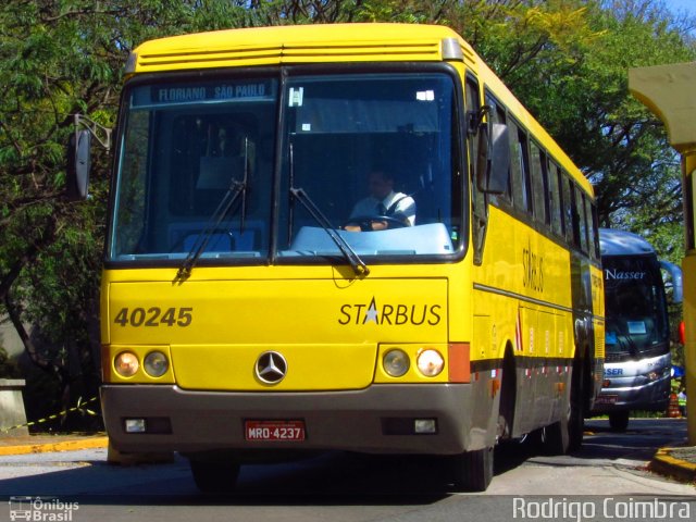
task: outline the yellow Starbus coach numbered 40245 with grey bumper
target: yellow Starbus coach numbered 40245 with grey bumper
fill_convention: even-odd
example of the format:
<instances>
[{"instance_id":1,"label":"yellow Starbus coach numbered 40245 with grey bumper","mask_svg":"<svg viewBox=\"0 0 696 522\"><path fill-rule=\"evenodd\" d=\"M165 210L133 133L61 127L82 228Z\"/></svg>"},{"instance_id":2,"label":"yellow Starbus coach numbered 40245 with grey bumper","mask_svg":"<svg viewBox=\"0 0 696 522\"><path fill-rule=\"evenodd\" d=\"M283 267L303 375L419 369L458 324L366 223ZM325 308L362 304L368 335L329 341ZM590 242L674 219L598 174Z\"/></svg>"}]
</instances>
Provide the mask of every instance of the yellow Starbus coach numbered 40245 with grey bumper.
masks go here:
<instances>
[{"instance_id":1,"label":"yellow Starbus coach numbered 40245 with grey bumper","mask_svg":"<svg viewBox=\"0 0 696 522\"><path fill-rule=\"evenodd\" d=\"M126 76L101 289L116 450L179 451L206 492L322 450L445 456L484 490L500 440L581 444L593 189L460 36L221 30L145 42Z\"/></svg>"}]
</instances>

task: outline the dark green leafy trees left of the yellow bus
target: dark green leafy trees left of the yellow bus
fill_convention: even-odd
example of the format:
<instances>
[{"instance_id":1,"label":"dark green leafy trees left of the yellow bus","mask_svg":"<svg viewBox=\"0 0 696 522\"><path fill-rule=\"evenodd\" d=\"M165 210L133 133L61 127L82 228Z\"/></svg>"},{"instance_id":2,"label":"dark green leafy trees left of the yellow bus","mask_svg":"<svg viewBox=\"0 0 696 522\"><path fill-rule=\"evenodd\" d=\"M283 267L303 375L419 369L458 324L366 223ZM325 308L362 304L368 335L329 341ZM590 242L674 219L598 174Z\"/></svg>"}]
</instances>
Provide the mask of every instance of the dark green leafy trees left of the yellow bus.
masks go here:
<instances>
[{"instance_id":1,"label":"dark green leafy trees left of the yellow bus","mask_svg":"<svg viewBox=\"0 0 696 522\"><path fill-rule=\"evenodd\" d=\"M174 1L0 7L0 315L65 397L95 394L98 384L94 324L108 184L98 152L90 200L64 198L73 114L112 125L128 51L161 34L158 21L171 30L189 14Z\"/></svg>"}]
</instances>

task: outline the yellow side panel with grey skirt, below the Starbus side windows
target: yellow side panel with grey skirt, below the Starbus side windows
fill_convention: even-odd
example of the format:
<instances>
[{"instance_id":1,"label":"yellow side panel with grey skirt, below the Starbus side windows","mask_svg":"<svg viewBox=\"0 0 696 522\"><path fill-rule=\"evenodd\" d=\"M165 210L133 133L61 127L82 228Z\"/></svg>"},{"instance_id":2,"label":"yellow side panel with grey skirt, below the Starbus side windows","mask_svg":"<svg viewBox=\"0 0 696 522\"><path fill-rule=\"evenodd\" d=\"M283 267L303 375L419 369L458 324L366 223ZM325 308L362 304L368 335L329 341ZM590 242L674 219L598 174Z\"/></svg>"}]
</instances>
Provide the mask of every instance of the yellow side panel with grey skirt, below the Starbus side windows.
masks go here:
<instances>
[{"instance_id":1,"label":"yellow side panel with grey skirt, below the Starbus side windows","mask_svg":"<svg viewBox=\"0 0 696 522\"><path fill-rule=\"evenodd\" d=\"M488 210L483 263L474 271L474 288L481 290L474 295L476 311L493 318L487 335L495 337L499 368L512 346L512 435L521 436L556 422L567 409L573 357L570 256L504 210Z\"/></svg>"}]
</instances>

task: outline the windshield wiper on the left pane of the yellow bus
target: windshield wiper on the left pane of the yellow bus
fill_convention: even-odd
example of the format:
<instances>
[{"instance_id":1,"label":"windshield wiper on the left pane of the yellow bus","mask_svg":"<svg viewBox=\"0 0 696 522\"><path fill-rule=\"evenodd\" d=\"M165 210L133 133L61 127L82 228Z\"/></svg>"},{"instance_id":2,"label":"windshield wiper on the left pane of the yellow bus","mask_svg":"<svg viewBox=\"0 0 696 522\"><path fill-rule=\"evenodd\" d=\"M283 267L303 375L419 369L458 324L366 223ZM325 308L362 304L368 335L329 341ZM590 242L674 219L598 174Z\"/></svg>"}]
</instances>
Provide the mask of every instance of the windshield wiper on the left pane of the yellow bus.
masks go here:
<instances>
[{"instance_id":1,"label":"windshield wiper on the left pane of the yellow bus","mask_svg":"<svg viewBox=\"0 0 696 522\"><path fill-rule=\"evenodd\" d=\"M182 266L179 266L178 269L178 272L176 272L176 281L184 281L188 278L189 275L191 275L191 270L194 270L194 266L196 265L202 253L206 251L211 237L217 229L220 229L220 223L222 223L222 220L225 219L225 216L229 212L229 209L232 209L239 196L241 196L239 234L244 233L244 225L247 214L247 188L249 184L249 162L247 159L248 147L249 140L245 139L244 177L241 182L233 178L229 183L229 187L225 191L223 198L220 200L217 208L210 216L206 228L198 235L196 241L194 243L194 246L188 252L188 256L186 256L186 259L184 260L184 264L182 264Z\"/></svg>"}]
</instances>

